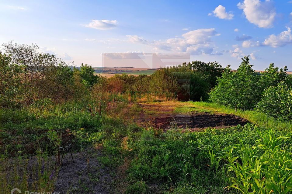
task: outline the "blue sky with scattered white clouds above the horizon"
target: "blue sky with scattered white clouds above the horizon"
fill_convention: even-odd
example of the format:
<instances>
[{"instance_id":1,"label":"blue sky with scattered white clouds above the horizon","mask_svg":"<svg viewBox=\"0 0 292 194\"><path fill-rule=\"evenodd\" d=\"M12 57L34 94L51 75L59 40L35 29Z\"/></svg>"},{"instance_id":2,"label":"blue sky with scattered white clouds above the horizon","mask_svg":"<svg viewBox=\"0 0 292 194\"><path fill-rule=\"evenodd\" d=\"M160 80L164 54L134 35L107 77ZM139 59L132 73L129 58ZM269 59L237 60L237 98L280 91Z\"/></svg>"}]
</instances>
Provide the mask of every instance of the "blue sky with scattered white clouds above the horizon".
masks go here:
<instances>
[{"instance_id":1,"label":"blue sky with scattered white clouds above the horizon","mask_svg":"<svg viewBox=\"0 0 292 194\"><path fill-rule=\"evenodd\" d=\"M292 71L292 1L4 1L0 43L36 43L68 65L102 66L102 53L190 54L237 69L250 55Z\"/></svg>"}]
</instances>

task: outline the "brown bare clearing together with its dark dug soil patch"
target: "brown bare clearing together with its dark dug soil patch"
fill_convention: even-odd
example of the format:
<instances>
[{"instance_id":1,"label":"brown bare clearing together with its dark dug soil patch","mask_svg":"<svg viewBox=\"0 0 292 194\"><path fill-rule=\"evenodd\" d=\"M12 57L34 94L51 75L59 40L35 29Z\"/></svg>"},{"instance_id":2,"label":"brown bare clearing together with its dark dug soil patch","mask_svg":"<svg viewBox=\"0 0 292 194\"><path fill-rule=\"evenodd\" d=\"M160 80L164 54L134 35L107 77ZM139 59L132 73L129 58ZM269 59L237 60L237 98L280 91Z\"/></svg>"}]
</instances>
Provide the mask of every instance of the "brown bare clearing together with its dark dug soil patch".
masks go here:
<instances>
[{"instance_id":1,"label":"brown bare clearing together with its dark dug soil patch","mask_svg":"<svg viewBox=\"0 0 292 194\"><path fill-rule=\"evenodd\" d=\"M160 102L160 103L141 103L143 113L139 120L141 125L150 122L156 128L168 130L170 128L182 128L202 130L208 127L224 128L236 125L245 125L249 121L236 115L210 114L208 112L187 112L176 113L176 108L185 106L182 102Z\"/></svg>"}]
</instances>

